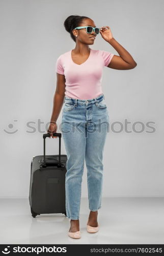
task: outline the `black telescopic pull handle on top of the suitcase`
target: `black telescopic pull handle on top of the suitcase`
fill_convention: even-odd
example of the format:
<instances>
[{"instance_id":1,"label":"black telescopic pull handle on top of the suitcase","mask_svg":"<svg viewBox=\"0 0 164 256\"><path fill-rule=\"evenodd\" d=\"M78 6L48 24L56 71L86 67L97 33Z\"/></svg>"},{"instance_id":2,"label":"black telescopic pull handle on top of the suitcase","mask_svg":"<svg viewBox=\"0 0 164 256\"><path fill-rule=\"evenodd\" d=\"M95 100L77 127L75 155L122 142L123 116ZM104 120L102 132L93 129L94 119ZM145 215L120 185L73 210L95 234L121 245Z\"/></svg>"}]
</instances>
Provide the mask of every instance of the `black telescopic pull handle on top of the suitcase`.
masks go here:
<instances>
[{"instance_id":1,"label":"black telescopic pull handle on top of the suitcase","mask_svg":"<svg viewBox=\"0 0 164 256\"><path fill-rule=\"evenodd\" d=\"M50 137L50 134L46 133L46 134L43 134L43 139L44 139L44 142L43 142L43 146L44 146L43 164L41 164L40 167L46 167L46 166L64 167L64 164L61 163L61 137L62 137L62 134L61 133L52 133L52 136L59 137L59 162L58 163L47 163L46 164L46 161L45 161L45 139L47 137Z\"/></svg>"}]
</instances>

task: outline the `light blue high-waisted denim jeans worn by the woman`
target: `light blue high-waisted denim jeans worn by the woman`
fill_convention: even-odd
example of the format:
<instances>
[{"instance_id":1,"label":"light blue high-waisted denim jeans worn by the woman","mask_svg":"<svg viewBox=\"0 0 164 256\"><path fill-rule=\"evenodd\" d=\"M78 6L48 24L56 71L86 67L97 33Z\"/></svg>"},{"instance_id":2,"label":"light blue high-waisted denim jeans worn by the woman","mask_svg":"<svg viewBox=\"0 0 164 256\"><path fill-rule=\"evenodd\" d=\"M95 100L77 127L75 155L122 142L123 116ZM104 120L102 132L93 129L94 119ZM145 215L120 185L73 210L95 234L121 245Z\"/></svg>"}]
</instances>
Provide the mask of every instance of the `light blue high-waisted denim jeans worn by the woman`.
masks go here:
<instances>
[{"instance_id":1,"label":"light blue high-waisted denim jeans worn by the woman","mask_svg":"<svg viewBox=\"0 0 164 256\"><path fill-rule=\"evenodd\" d=\"M103 94L88 100L64 97L61 130L67 153L65 189L69 219L79 219L85 160L89 209L97 211L101 208L102 154L108 126L108 109Z\"/></svg>"}]
</instances>

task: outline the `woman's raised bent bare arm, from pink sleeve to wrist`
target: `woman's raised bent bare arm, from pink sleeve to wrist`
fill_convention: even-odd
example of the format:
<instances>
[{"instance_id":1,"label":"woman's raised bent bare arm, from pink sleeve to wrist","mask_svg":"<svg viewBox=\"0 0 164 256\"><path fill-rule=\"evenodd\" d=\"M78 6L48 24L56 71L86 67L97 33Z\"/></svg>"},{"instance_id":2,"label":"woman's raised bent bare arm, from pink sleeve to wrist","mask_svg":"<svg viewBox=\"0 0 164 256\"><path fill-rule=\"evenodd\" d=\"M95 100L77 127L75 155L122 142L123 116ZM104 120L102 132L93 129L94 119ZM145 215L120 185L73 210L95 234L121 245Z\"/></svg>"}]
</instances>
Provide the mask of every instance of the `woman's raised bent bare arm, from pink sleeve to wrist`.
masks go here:
<instances>
[{"instance_id":1,"label":"woman's raised bent bare arm, from pink sleeve to wrist","mask_svg":"<svg viewBox=\"0 0 164 256\"><path fill-rule=\"evenodd\" d=\"M133 69L136 67L136 62L130 55L128 51L124 47L122 47L118 41L115 40L113 37L110 41L108 41L110 45L112 45L115 50L119 53L120 56L114 55L110 64L107 66L111 69L118 69L118 70L127 70Z\"/></svg>"}]
</instances>

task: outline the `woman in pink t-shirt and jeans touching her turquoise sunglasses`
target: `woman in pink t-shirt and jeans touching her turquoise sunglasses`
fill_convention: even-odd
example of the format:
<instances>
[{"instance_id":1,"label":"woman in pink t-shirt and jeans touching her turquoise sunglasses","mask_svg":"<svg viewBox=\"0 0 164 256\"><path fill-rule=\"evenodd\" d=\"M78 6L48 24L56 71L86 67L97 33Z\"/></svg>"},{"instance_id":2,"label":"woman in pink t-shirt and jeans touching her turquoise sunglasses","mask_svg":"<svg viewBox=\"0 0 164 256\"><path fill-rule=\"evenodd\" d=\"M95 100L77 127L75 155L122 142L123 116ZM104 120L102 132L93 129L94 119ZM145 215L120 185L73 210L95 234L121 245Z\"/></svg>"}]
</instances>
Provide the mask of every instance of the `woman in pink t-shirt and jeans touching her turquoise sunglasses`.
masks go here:
<instances>
[{"instance_id":1,"label":"woman in pink t-shirt and jeans touching her turquoise sunglasses","mask_svg":"<svg viewBox=\"0 0 164 256\"><path fill-rule=\"evenodd\" d=\"M98 209L101 208L103 164L102 153L109 121L105 98L101 90L103 67L128 70L136 67L132 56L114 39L111 29L96 28L86 16L71 15L65 22L76 46L59 56L56 63L57 88L48 127L50 137L57 132L57 119L62 109L62 137L67 152L66 214L70 219L68 236L78 239L81 181L84 161L87 166L87 182L90 215L87 231L97 232ZM98 34L120 56L108 51L93 50ZM101 120L101 123L99 122Z\"/></svg>"}]
</instances>

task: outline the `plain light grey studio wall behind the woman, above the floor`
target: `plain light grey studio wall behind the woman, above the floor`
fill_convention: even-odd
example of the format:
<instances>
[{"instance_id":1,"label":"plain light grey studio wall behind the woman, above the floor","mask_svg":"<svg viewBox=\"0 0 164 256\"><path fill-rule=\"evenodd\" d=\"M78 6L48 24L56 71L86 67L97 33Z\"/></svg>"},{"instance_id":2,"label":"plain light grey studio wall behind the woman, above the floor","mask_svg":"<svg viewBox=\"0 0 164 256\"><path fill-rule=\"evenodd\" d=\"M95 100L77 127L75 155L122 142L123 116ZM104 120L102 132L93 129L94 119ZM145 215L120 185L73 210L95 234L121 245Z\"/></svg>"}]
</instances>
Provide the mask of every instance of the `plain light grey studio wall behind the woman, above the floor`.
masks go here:
<instances>
[{"instance_id":1,"label":"plain light grey studio wall behind the woman, above the floor","mask_svg":"<svg viewBox=\"0 0 164 256\"><path fill-rule=\"evenodd\" d=\"M98 27L110 26L114 38L138 63L124 71L104 67L102 90L110 123L124 126L128 119L129 131L134 122L145 125L142 133L110 130L103 155L103 197L163 197L163 1L0 3L0 196L29 196L31 160L43 154L42 134L52 111L56 60L75 47L63 23L69 15L85 15ZM119 55L101 35L91 48ZM61 116L62 112L58 127ZM28 133L32 131L26 127L29 121L34 122L33 133ZM152 131L146 127L149 121L154 122L154 133L146 132ZM116 125L115 130L119 129ZM46 154L58 153L58 143L59 139L47 139ZM66 154L63 139L62 154ZM88 196L86 172L85 165L81 197Z\"/></svg>"}]
</instances>

